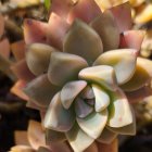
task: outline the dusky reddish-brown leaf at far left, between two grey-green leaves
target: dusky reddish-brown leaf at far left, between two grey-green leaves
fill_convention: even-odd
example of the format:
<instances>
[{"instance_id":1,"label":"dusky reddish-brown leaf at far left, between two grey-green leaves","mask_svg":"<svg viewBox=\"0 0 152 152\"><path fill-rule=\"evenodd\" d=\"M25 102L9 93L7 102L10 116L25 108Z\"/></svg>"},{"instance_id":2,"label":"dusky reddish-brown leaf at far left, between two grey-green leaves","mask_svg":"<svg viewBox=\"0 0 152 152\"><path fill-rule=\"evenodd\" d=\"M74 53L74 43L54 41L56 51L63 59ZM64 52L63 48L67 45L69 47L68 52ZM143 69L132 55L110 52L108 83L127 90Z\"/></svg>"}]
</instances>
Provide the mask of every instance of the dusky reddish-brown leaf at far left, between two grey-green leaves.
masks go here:
<instances>
[{"instance_id":1,"label":"dusky reddish-brown leaf at far left, between two grey-green leaves","mask_svg":"<svg viewBox=\"0 0 152 152\"><path fill-rule=\"evenodd\" d=\"M35 76L31 74L31 72L27 67L25 59L13 64L11 66L11 69L18 79L30 81L35 78Z\"/></svg>"}]
</instances>

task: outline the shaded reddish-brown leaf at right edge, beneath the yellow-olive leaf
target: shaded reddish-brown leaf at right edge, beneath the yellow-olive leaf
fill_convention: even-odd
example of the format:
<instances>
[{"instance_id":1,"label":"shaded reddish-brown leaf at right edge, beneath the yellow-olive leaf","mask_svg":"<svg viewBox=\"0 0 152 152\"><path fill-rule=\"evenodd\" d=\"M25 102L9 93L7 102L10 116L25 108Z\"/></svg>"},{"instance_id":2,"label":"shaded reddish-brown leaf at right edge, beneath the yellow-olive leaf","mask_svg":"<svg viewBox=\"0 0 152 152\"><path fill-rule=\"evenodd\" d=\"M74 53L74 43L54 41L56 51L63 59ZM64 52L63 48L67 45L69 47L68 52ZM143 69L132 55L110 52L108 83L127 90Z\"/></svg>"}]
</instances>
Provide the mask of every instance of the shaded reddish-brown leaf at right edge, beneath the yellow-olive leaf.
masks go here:
<instances>
[{"instance_id":1,"label":"shaded reddish-brown leaf at right edge, beneath the yellow-olive leaf","mask_svg":"<svg viewBox=\"0 0 152 152\"><path fill-rule=\"evenodd\" d=\"M126 92L127 99L131 104L142 101L144 98L152 96L151 86L144 86L136 91Z\"/></svg>"}]
</instances>

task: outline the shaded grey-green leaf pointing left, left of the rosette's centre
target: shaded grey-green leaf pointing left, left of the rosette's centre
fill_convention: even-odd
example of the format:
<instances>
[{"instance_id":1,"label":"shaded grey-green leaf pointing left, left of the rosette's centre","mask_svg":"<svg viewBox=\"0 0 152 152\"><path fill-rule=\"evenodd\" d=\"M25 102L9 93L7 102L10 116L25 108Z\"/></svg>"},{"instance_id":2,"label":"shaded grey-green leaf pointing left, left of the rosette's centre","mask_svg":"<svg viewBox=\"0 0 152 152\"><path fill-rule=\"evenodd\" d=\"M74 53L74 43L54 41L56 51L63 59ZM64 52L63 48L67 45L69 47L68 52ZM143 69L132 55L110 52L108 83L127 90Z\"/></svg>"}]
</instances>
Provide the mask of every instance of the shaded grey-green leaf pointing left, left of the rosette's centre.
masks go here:
<instances>
[{"instance_id":1,"label":"shaded grey-green leaf pointing left, left of the rosette's centre","mask_svg":"<svg viewBox=\"0 0 152 152\"><path fill-rule=\"evenodd\" d=\"M49 81L46 74L37 77L24 88L24 92L31 98L36 104L42 107L49 105L58 90L59 88Z\"/></svg>"}]
</instances>

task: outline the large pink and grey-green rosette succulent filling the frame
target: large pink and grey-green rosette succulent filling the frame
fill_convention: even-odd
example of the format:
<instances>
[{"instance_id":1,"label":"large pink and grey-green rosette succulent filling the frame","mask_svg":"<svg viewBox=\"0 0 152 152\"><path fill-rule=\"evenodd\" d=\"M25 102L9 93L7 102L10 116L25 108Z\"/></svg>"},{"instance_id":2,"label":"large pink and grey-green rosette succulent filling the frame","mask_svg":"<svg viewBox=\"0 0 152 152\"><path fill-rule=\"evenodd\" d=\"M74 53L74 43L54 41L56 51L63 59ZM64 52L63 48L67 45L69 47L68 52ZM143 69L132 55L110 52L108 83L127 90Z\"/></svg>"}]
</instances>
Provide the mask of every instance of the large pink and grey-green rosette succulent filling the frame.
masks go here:
<instances>
[{"instance_id":1,"label":"large pink and grey-green rosette succulent filling the frame","mask_svg":"<svg viewBox=\"0 0 152 152\"><path fill-rule=\"evenodd\" d=\"M48 23L25 20L27 49L12 69L48 144L80 152L136 134L129 102L151 93L152 62L138 56L144 33L131 25L129 3L101 12L94 0L54 0Z\"/></svg>"}]
</instances>

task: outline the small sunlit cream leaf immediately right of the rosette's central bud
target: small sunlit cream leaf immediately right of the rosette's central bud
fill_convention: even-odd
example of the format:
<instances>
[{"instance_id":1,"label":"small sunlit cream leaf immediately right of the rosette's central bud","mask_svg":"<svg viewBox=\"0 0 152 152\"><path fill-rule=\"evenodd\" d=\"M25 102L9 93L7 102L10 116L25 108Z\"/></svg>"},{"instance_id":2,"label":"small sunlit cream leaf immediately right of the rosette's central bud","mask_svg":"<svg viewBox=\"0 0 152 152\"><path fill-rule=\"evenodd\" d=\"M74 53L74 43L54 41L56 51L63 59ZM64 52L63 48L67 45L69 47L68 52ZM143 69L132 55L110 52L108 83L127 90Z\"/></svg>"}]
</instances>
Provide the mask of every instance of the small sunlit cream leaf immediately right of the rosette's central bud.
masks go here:
<instances>
[{"instance_id":1,"label":"small sunlit cream leaf immediately right of the rosette's central bud","mask_svg":"<svg viewBox=\"0 0 152 152\"><path fill-rule=\"evenodd\" d=\"M103 90L98 85L92 85L92 89L93 89L94 97L96 97L96 99L94 99L96 100L96 103L94 103L96 112L103 111L110 104L110 97L105 92L105 90Z\"/></svg>"}]
</instances>

